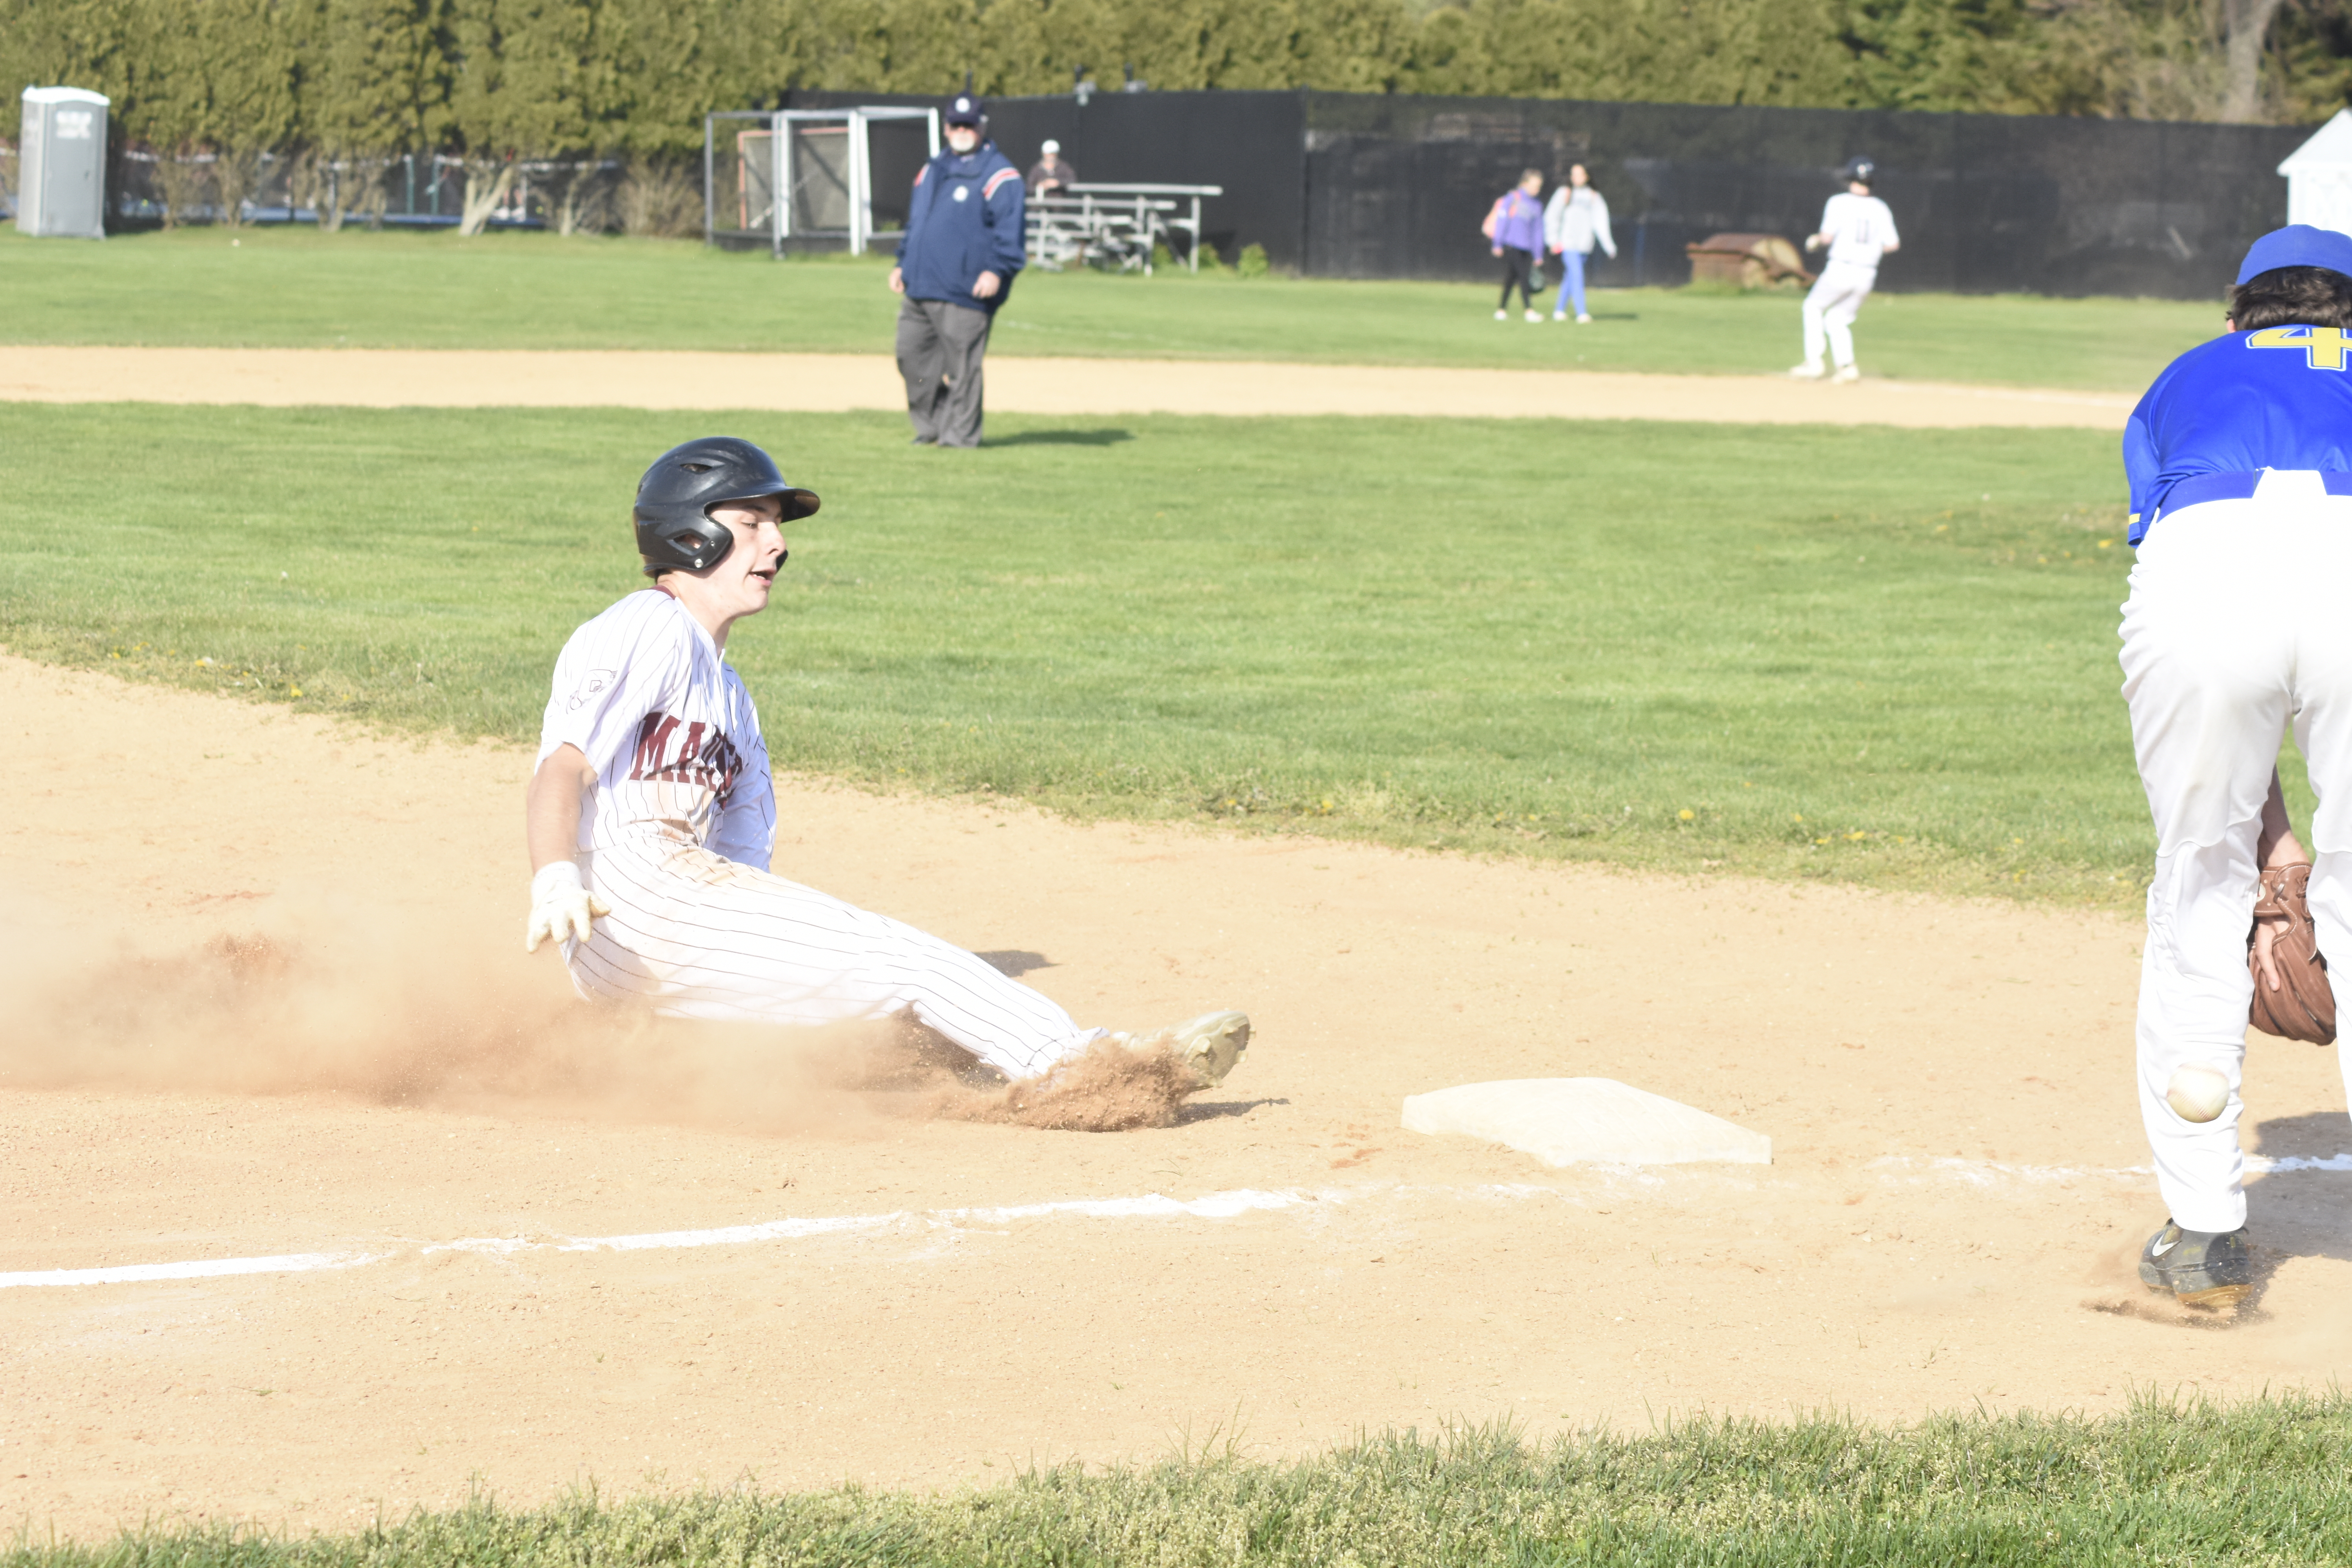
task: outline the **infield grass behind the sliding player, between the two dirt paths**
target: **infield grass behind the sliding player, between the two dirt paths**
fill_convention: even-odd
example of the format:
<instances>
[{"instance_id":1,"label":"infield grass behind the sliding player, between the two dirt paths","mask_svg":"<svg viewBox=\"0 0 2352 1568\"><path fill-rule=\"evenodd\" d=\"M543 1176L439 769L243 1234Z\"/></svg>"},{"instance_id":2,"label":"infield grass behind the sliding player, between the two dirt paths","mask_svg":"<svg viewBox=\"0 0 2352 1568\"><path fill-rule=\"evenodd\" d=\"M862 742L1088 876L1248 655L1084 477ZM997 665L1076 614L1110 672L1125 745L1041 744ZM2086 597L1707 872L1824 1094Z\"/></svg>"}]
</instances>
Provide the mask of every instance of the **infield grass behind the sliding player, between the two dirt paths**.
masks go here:
<instances>
[{"instance_id":1,"label":"infield grass behind the sliding player, between the two dirt paths","mask_svg":"<svg viewBox=\"0 0 2352 1568\"><path fill-rule=\"evenodd\" d=\"M562 637L637 583L640 465L708 428L826 496L729 649L779 769L1677 870L2140 884L2096 433L1035 416L957 454L884 414L16 404L0 642L532 738Z\"/></svg>"}]
</instances>

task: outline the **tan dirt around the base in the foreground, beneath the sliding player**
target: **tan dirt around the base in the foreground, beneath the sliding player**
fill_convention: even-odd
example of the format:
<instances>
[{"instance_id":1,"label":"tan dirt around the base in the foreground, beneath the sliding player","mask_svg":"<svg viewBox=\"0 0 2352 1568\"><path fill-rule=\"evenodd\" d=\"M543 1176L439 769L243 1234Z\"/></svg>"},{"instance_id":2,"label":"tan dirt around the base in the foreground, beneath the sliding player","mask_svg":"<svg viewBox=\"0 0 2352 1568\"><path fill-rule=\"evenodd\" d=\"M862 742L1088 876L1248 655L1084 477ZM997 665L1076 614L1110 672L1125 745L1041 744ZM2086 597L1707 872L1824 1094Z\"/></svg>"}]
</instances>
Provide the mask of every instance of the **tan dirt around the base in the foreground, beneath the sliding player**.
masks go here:
<instances>
[{"instance_id":1,"label":"tan dirt around the base in the foreground, beneath the sliding player","mask_svg":"<svg viewBox=\"0 0 2352 1568\"><path fill-rule=\"evenodd\" d=\"M1054 1133L924 1117L868 1034L576 1004L520 950L524 752L14 658L0 715L0 1272L376 1255L0 1288L0 1519L35 1535L2352 1363L2343 1171L2253 1182L2237 1319L2133 1279L2131 922L781 780L783 875L1082 1020L1256 1018L1178 1126ZM1397 1128L1406 1093L1566 1074L1776 1161L1545 1171ZM2326 1051L2256 1037L2246 1100L2267 1157L2352 1145ZM1117 1204L1155 1192L1258 1197ZM1073 1199L1108 1204L969 1213ZM781 1220L842 1222L560 1246Z\"/></svg>"}]
</instances>

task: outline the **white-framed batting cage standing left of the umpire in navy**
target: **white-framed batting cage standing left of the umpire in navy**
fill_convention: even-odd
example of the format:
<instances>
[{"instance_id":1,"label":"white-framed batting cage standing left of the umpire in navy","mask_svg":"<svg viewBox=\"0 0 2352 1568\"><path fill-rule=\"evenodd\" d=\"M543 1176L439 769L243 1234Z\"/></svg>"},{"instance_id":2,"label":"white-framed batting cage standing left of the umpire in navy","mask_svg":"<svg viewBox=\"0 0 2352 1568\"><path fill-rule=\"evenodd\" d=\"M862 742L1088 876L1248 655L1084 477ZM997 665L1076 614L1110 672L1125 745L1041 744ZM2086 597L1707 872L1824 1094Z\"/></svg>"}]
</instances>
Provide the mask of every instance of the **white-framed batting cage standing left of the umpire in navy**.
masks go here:
<instances>
[{"instance_id":1,"label":"white-framed batting cage standing left of the umpire in navy","mask_svg":"<svg viewBox=\"0 0 2352 1568\"><path fill-rule=\"evenodd\" d=\"M731 150L720 148L722 120L739 127ZM917 127L920 143L908 134ZM875 240L906 233L915 172L936 155L936 108L713 110L703 115L703 242L764 242L779 259L842 247L863 256Z\"/></svg>"}]
</instances>

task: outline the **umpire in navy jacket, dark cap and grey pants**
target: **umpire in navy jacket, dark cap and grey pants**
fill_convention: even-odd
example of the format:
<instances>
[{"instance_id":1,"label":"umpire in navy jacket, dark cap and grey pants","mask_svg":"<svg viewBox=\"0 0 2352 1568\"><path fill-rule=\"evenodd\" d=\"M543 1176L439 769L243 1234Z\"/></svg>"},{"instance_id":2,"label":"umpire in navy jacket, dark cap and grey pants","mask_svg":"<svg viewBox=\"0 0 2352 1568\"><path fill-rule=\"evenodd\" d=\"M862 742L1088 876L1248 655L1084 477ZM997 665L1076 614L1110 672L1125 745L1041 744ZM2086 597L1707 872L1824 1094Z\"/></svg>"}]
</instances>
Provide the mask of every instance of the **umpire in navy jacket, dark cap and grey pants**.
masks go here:
<instances>
[{"instance_id":1,"label":"umpire in navy jacket, dark cap and grey pants","mask_svg":"<svg viewBox=\"0 0 2352 1568\"><path fill-rule=\"evenodd\" d=\"M948 106L948 146L922 165L889 270L898 306L898 374L917 447L981 444L981 355L997 306L1028 261L1021 172L981 134L981 101Z\"/></svg>"}]
</instances>

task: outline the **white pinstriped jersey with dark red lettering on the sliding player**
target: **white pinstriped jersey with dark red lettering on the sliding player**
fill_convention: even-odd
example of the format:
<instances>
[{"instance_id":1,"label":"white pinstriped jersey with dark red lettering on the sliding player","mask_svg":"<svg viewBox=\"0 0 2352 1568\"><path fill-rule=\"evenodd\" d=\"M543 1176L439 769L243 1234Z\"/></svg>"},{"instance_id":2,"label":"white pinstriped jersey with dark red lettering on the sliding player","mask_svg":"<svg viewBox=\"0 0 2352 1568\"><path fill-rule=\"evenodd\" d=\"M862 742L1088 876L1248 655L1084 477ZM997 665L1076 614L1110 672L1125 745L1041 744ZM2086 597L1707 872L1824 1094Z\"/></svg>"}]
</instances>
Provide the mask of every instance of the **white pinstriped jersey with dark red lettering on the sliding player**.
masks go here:
<instances>
[{"instance_id":1,"label":"white pinstriped jersey with dark red lettering on the sliding player","mask_svg":"<svg viewBox=\"0 0 2352 1568\"><path fill-rule=\"evenodd\" d=\"M597 773L581 799L581 849L666 858L703 846L767 870L776 788L760 712L670 595L633 592L564 642L539 759L567 741Z\"/></svg>"}]
</instances>

